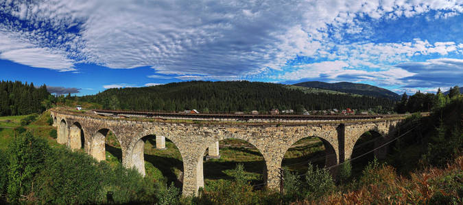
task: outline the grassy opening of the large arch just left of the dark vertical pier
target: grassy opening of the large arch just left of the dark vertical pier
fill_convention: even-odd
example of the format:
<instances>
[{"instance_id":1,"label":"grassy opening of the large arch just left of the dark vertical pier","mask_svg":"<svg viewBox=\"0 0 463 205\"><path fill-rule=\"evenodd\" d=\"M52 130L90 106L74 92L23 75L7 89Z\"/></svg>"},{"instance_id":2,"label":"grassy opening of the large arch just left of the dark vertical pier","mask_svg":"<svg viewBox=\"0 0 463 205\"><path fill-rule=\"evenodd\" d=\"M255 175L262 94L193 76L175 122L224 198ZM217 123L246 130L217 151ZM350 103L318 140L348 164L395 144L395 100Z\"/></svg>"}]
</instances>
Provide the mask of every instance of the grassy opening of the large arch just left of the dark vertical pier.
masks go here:
<instances>
[{"instance_id":1,"label":"grassy opening of the large arch just left of the dark vertical pier","mask_svg":"<svg viewBox=\"0 0 463 205\"><path fill-rule=\"evenodd\" d=\"M289 171L304 174L308 163L320 168L337 164L335 148L322 137L309 136L298 139L285 152L281 167L288 167Z\"/></svg>"}]
</instances>

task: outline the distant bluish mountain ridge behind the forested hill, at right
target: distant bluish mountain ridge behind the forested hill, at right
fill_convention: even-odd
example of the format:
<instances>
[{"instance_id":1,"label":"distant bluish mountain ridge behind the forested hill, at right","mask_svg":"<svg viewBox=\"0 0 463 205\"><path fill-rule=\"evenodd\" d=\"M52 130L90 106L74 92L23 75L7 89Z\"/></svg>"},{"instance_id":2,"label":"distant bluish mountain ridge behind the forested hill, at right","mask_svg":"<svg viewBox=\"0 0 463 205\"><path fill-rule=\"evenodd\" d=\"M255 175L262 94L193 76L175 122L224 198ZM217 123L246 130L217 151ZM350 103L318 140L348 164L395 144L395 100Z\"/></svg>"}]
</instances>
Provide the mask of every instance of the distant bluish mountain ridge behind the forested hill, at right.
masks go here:
<instances>
[{"instance_id":1,"label":"distant bluish mountain ridge behind the forested hill, at right","mask_svg":"<svg viewBox=\"0 0 463 205\"><path fill-rule=\"evenodd\" d=\"M348 83L348 82L340 82L340 83L324 83L320 81L307 81L303 83L296 83L294 84L300 87L313 87L319 88L324 90L334 90L337 92L345 92L350 94L359 94L362 96L372 96L377 98L389 98L392 100L399 100L401 96L392 92L390 90L386 90L381 87L376 87L373 85L367 85L362 83Z\"/></svg>"}]
</instances>

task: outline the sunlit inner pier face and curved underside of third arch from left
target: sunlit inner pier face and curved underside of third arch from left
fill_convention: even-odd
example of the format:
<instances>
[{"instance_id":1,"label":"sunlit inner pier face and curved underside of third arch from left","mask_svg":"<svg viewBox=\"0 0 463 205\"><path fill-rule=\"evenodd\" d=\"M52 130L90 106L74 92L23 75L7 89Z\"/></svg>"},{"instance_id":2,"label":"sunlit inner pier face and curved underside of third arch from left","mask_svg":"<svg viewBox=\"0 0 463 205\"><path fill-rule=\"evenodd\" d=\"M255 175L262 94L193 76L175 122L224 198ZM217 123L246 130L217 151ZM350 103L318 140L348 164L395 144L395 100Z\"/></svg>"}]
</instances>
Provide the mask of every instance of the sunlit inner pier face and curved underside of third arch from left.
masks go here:
<instances>
[{"instance_id":1,"label":"sunlit inner pier face and curved underside of third arch from left","mask_svg":"<svg viewBox=\"0 0 463 205\"><path fill-rule=\"evenodd\" d=\"M112 131L111 128L99 128L95 133L93 133L91 137L91 148L90 154L93 156L97 161L104 161L106 160L106 137L108 133L112 133L114 135L115 132ZM121 144L119 137L116 135L117 142Z\"/></svg>"}]
</instances>

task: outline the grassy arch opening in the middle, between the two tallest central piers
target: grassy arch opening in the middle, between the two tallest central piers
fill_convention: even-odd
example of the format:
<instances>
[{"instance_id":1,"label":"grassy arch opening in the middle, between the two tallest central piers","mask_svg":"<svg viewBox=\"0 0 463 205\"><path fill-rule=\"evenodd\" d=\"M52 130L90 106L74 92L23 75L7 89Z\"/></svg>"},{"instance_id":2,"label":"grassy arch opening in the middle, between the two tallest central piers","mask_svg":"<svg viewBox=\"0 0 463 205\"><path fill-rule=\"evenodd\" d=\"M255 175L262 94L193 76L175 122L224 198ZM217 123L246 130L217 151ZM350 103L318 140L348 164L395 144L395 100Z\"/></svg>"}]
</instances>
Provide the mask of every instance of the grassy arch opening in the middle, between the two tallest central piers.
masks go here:
<instances>
[{"instance_id":1,"label":"grassy arch opening in the middle, between the two tallest central piers","mask_svg":"<svg viewBox=\"0 0 463 205\"><path fill-rule=\"evenodd\" d=\"M219 157L211 157L218 152ZM206 159L203 166L204 189L206 190L211 189L210 187L219 180L233 180L233 170L238 164L244 166L244 172L252 185L267 182L267 165L263 155L248 141L236 138L222 139L218 141L217 148L209 146L204 152L204 157ZM261 187L264 186L261 185L257 189Z\"/></svg>"}]
</instances>

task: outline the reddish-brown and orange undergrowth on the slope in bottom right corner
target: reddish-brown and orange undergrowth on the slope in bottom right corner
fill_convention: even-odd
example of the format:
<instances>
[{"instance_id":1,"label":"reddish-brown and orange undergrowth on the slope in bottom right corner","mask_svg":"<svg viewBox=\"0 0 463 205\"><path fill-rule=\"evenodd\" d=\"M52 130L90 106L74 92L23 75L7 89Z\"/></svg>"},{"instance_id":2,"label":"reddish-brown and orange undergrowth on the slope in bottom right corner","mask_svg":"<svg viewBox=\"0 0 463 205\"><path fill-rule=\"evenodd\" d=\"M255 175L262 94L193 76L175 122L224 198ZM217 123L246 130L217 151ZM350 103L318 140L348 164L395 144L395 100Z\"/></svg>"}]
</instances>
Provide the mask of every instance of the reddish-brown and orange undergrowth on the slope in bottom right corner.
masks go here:
<instances>
[{"instance_id":1,"label":"reddish-brown and orange undergrowth on the slope in bottom right corner","mask_svg":"<svg viewBox=\"0 0 463 205\"><path fill-rule=\"evenodd\" d=\"M387 176L382 183L363 184L357 190L300 204L462 204L462 170L462 156L445 169L427 168L410 178L396 176L392 167L379 165L372 172Z\"/></svg>"}]
</instances>

